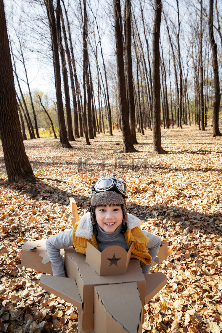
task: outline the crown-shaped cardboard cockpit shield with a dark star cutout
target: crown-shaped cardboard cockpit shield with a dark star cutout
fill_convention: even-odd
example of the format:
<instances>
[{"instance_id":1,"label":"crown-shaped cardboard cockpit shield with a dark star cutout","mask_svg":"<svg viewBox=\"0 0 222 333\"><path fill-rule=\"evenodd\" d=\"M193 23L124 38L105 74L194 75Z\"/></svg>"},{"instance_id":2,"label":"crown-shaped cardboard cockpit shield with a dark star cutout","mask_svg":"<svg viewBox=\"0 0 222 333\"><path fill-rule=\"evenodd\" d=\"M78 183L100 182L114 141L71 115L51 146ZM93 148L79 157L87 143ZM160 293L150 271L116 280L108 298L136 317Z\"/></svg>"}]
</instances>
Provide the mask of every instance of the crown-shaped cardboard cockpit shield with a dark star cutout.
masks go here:
<instances>
[{"instance_id":1,"label":"crown-shaped cardboard cockpit shield with a dark star cutout","mask_svg":"<svg viewBox=\"0 0 222 333\"><path fill-rule=\"evenodd\" d=\"M87 242L86 263L99 275L122 275L127 271L132 244L128 252L121 246L109 246L102 252Z\"/></svg>"}]
</instances>

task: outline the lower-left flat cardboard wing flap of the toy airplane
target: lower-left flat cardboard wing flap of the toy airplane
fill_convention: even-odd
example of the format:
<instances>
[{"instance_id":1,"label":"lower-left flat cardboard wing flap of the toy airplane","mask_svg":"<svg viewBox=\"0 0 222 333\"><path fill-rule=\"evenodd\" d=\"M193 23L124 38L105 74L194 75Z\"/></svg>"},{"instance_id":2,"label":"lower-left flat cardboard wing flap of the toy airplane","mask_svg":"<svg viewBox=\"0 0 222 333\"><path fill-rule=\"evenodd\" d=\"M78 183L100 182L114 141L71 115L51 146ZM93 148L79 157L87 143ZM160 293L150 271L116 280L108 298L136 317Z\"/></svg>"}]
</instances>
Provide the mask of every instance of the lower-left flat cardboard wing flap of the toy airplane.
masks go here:
<instances>
[{"instance_id":1,"label":"lower-left flat cardboard wing flap of the toy airplane","mask_svg":"<svg viewBox=\"0 0 222 333\"><path fill-rule=\"evenodd\" d=\"M47 291L75 305L79 309L82 308L82 299L76 285L76 280L42 274L39 283Z\"/></svg>"}]
</instances>

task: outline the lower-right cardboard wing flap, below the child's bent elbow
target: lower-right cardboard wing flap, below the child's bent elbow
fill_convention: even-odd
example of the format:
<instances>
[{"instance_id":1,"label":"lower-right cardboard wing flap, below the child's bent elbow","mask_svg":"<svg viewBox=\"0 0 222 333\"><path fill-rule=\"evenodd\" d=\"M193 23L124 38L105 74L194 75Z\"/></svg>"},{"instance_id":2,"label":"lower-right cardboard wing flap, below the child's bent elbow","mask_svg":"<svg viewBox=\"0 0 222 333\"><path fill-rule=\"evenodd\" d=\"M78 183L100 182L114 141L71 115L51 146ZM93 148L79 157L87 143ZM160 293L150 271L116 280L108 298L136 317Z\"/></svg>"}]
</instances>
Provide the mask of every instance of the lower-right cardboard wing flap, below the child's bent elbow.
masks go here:
<instances>
[{"instance_id":1,"label":"lower-right cardboard wing flap, below the child's bent elbow","mask_svg":"<svg viewBox=\"0 0 222 333\"><path fill-rule=\"evenodd\" d=\"M166 284L167 279L161 272L144 274L146 279L145 304L147 304Z\"/></svg>"}]
</instances>

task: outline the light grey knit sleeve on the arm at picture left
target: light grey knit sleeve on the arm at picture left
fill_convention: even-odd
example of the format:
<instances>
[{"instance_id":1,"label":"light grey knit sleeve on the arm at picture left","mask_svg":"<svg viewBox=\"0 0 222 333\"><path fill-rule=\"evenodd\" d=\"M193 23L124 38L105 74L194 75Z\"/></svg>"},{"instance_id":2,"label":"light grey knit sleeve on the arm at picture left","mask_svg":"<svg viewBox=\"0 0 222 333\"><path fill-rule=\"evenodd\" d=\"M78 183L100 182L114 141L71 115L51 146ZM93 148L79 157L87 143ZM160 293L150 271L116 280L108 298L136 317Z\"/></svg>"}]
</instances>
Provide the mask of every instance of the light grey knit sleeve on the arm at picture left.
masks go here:
<instances>
[{"instance_id":1,"label":"light grey knit sleeve on the arm at picture left","mask_svg":"<svg viewBox=\"0 0 222 333\"><path fill-rule=\"evenodd\" d=\"M51 261L53 275L66 276L60 249L69 246L73 246L73 229L57 233L46 240L46 249Z\"/></svg>"}]
</instances>

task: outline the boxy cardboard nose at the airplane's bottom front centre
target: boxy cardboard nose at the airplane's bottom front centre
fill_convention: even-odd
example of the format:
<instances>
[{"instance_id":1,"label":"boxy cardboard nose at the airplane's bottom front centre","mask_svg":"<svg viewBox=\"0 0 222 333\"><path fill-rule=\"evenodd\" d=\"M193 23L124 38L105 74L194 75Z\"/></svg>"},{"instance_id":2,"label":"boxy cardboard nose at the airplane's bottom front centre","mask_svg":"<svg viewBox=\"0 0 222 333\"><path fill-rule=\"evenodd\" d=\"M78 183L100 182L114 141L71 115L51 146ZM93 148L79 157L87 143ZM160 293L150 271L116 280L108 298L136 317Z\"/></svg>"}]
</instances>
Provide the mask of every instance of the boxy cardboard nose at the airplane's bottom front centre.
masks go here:
<instances>
[{"instance_id":1,"label":"boxy cardboard nose at the airplane's bottom front centre","mask_svg":"<svg viewBox=\"0 0 222 333\"><path fill-rule=\"evenodd\" d=\"M142 311L136 282L95 286L95 333L141 332Z\"/></svg>"}]
</instances>

